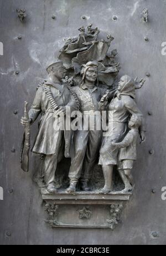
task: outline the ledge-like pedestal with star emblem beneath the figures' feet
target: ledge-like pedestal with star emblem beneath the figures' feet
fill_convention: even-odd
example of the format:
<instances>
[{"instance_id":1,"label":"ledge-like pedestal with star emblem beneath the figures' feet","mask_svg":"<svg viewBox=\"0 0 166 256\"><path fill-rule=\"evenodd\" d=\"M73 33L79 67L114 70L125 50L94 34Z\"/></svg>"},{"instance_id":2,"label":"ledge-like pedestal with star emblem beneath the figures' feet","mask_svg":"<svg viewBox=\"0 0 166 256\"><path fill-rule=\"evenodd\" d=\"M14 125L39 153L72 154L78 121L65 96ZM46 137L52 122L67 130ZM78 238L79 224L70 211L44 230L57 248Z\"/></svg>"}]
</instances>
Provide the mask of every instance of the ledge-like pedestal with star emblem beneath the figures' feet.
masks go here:
<instances>
[{"instance_id":1,"label":"ledge-like pedestal with star emblem beneath the figures' feet","mask_svg":"<svg viewBox=\"0 0 166 256\"><path fill-rule=\"evenodd\" d=\"M132 193L112 192L107 195L98 191L67 194L60 190L50 194L41 190L45 211L49 214L46 223L52 228L110 228L120 221L125 202Z\"/></svg>"}]
</instances>

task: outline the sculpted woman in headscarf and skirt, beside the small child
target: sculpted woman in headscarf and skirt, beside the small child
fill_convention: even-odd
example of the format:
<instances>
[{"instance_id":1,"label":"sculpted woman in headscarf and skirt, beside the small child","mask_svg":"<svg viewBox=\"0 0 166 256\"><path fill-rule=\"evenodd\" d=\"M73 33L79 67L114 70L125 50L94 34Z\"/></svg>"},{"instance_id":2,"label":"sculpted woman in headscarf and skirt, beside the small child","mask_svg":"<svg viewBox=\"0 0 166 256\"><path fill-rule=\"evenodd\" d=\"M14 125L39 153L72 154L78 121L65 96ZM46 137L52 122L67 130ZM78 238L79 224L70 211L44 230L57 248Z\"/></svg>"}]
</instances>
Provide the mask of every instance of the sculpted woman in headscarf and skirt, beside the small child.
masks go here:
<instances>
[{"instance_id":1,"label":"sculpted woman in headscarf and skirt, beside the small child","mask_svg":"<svg viewBox=\"0 0 166 256\"><path fill-rule=\"evenodd\" d=\"M144 83L142 80L141 87ZM140 88L140 87L139 87ZM113 166L117 165L118 149L111 145L111 142L121 142L128 129L129 116L136 114L142 117L142 112L138 109L136 102L133 100L136 97L134 80L125 75L121 77L118 83L118 91L114 99L108 104L107 95L103 96L100 102L101 109L108 110L108 132L103 138L99 165L102 165L103 175L105 178L105 186L101 189L101 194L107 194L112 190L112 173ZM139 134L142 142L146 140L144 135L143 125L139 127Z\"/></svg>"}]
</instances>

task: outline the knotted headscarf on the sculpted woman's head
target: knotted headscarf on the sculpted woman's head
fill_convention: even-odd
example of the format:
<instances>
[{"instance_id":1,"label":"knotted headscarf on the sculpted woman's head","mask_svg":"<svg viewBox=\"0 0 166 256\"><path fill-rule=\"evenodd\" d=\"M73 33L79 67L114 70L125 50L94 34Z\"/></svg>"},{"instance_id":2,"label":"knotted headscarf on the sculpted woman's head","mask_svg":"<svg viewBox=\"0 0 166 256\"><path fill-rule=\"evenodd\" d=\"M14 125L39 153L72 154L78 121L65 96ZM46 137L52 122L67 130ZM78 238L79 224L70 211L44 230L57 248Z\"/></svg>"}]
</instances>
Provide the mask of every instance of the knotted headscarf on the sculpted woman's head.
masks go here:
<instances>
[{"instance_id":1,"label":"knotted headscarf on the sculpted woman's head","mask_svg":"<svg viewBox=\"0 0 166 256\"><path fill-rule=\"evenodd\" d=\"M125 75L124 77L126 83L120 91L117 91L117 97L119 99L121 95L129 95L134 99L136 97L135 82L130 76Z\"/></svg>"}]
</instances>

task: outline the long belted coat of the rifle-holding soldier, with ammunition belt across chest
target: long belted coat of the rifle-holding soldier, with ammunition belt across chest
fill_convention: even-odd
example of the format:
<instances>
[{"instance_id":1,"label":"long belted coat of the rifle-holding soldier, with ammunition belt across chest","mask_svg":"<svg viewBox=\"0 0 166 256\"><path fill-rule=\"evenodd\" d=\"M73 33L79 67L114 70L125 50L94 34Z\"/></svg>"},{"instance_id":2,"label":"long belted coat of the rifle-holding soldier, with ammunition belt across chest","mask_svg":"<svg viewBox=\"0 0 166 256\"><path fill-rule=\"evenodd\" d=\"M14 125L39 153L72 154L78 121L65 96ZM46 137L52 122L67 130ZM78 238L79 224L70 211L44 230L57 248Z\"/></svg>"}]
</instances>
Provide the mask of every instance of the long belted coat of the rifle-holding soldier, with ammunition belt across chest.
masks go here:
<instances>
[{"instance_id":1,"label":"long belted coat of the rifle-holding soldier, with ammunition belt across chest","mask_svg":"<svg viewBox=\"0 0 166 256\"><path fill-rule=\"evenodd\" d=\"M44 91L45 85L50 85L51 92L58 106L69 106L71 112L76 110L77 106L74 97L66 85L57 85L52 81L47 81L43 86L38 88L32 107L29 110L29 118L32 122L37 119L39 114L42 114L38 135L32 151L38 154L51 155L56 152L60 131L54 129L54 111L51 109L49 99ZM64 130L66 157L69 157L71 132Z\"/></svg>"}]
</instances>

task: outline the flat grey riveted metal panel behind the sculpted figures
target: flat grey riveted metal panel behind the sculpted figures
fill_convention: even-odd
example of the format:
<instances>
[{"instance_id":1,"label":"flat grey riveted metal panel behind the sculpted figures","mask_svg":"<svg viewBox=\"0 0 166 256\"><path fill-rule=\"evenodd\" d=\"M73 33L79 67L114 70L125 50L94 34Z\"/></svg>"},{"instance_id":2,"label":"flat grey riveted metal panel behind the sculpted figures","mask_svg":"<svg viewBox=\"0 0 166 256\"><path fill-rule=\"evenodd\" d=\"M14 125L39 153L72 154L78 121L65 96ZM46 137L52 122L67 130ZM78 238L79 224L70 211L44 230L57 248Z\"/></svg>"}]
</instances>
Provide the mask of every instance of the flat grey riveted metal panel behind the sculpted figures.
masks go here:
<instances>
[{"instance_id":1,"label":"flat grey riveted metal panel behind the sculpted figures","mask_svg":"<svg viewBox=\"0 0 166 256\"><path fill-rule=\"evenodd\" d=\"M23 22L17 8L26 9ZM149 11L148 22L142 22L144 8ZM4 46L0 56L1 244L165 244L166 201L161 199L161 189L166 186L166 56L161 53L166 41L165 12L165 0L0 0L0 41ZM28 174L19 165L23 134L19 120L24 100L32 103L36 86L45 79L46 66L56 60L63 38L76 36L77 28L90 23L98 26L102 35L115 37L111 49L118 51L117 61L122 67L118 77L151 74L137 91L138 106L146 117L147 141L138 145L134 195L123 211L122 223L113 232L50 229L44 223L42 196L32 181L38 157L30 155ZM14 110L18 115L13 115ZM32 127L32 140L35 132L37 124ZM151 149L155 154L149 154ZM10 194L11 188L14 193Z\"/></svg>"}]
</instances>

